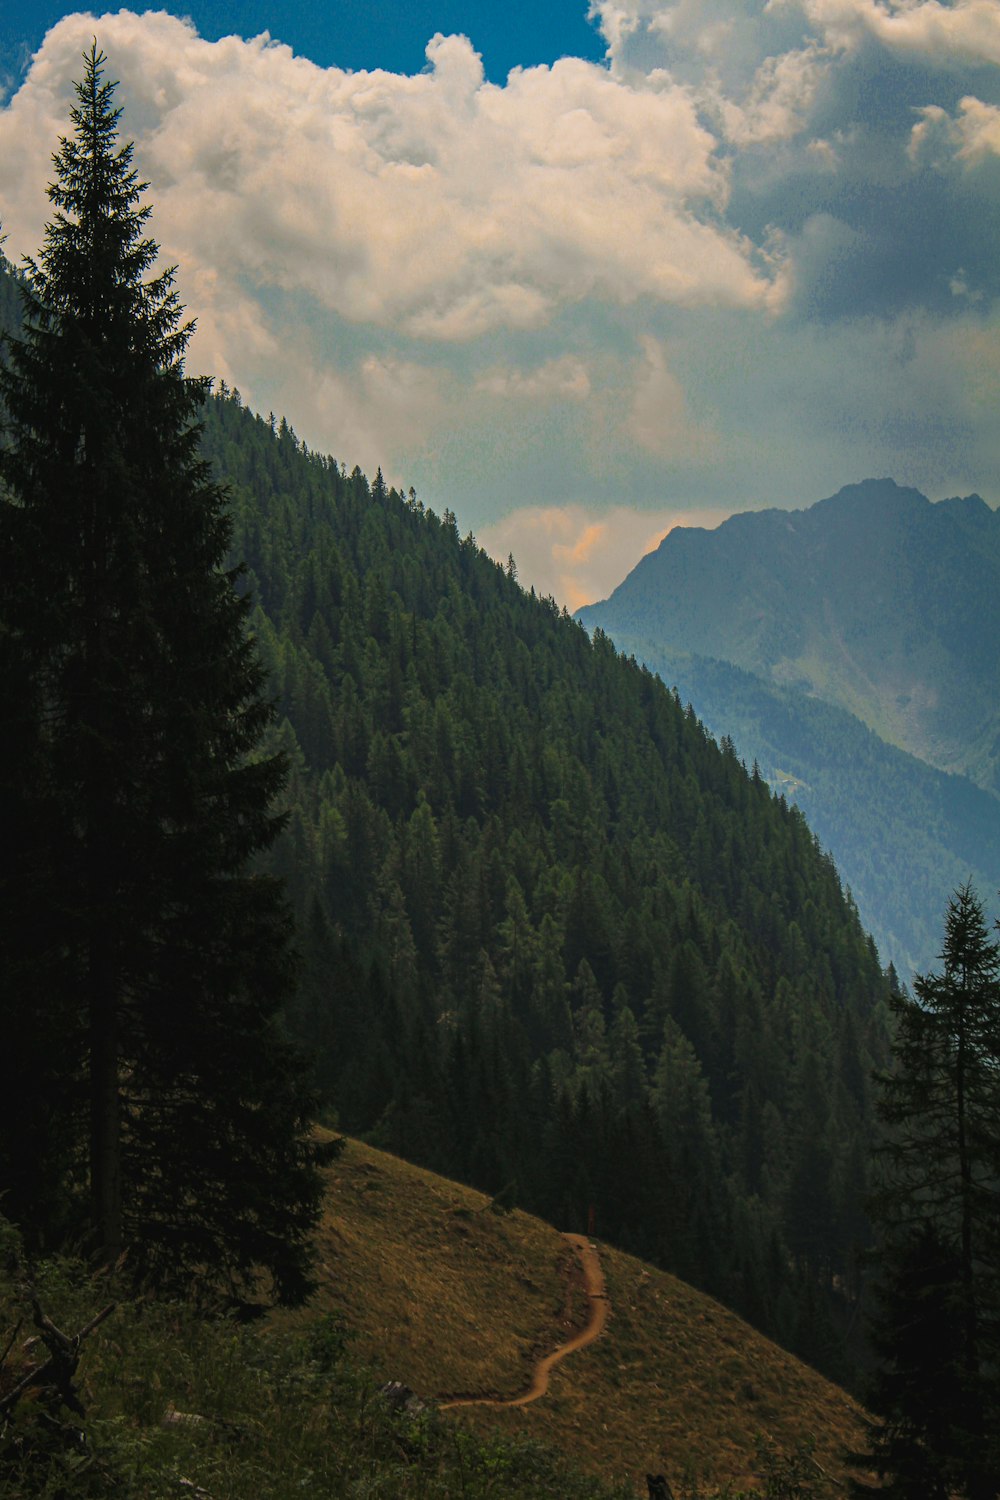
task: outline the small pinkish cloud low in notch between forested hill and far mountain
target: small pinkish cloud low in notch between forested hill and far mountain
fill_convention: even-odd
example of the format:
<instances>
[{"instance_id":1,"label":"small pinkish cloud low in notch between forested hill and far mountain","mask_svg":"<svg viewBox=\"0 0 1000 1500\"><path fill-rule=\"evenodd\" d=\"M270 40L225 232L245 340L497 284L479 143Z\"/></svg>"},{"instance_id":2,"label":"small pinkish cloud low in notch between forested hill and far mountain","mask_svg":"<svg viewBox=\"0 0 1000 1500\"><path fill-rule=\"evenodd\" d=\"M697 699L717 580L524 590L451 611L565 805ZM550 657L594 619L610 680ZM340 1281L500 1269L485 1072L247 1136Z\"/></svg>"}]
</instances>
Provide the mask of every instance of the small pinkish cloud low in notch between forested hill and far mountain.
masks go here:
<instances>
[{"instance_id":1,"label":"small pinkish cloud low in notch between forested hill and far mountain","mask_svg":"<svg viewBox=\"0 0 1000 1500\"><path fill-rule=\"evenodd\" d=\"M498 561L513 554L525 588L576 610L606 598L675 526L717 526L729 513L528 506L481 530L478 540Z\"/></svg>"}]
</instances>

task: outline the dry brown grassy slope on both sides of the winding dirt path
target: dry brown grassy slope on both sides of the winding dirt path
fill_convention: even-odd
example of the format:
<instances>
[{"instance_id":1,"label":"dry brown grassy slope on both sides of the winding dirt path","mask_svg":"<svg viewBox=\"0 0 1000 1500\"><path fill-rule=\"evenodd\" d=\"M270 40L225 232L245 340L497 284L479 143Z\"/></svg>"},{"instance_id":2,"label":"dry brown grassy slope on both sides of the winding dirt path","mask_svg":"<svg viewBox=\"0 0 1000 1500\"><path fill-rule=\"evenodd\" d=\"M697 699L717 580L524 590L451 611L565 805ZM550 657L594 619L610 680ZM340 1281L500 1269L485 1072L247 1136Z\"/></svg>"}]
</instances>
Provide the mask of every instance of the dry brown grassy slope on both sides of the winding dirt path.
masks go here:
<instances>
[{"instance_id":1,"label":"dry brown grassy slope on both sides of the winding dirt path","mask_svg":"<svg viewBox=\"0 0 1000 1500\"><path fill-rule=\"evenodd\" d=\"M385 1378L421 1396L516 1395L583 1322L565 1240L540 1220L492 1214L471 1188L355 1142L330 1176L313 1308L336 1308ZM601 1262L609 1328L556 1366L549 1395L447 1420L540 1438L643 1491L648 1470L675 1490L753 1484L757 1434L787 1452L811 1437L840 1490L841 1454L862 1437L843 1390L676 1278L606 1246Z\"/></svg>"}]
</instances>

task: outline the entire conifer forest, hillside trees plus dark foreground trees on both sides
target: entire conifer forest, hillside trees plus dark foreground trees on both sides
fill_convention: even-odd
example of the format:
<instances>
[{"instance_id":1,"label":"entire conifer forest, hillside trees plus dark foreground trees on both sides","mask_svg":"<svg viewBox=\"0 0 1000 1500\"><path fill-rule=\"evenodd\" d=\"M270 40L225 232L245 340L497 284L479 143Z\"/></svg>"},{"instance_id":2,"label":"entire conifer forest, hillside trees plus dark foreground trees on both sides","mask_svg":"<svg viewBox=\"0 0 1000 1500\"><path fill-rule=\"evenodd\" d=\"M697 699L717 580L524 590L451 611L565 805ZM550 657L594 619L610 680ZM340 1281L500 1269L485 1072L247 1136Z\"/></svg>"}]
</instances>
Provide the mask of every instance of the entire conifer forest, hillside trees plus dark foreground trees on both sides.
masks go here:
<instances>
[{"instance_id":1,"label":"entire conifer forest, hillside trees plus dark foreground trees on both sides","mask_svg":"<svg viewBox=\"0 0 1000 1500\"><path fill-rule=\"evenodd\" d=\"M978 894L942 891L942 969L910 994L696 706L433 496L189 378L114 90L94 42L45 242L0 276L0 1210L24 1254L211 1286L216 1312L301 1302L319 1120L867 1389L859 1461L892 1494L990 1500Z\"/></svg>"}]
</instances>

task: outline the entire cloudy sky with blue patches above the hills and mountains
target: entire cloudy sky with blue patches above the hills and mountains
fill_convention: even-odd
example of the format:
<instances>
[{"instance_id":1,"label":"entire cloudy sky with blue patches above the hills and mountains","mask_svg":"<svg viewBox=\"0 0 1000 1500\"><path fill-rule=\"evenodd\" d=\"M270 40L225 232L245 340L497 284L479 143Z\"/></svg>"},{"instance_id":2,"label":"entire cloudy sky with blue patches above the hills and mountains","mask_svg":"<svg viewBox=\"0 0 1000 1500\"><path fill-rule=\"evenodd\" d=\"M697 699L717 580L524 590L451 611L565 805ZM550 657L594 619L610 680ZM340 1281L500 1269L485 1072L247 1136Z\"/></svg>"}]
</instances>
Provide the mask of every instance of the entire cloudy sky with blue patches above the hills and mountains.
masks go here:
<instances>
[{"instance_id":1,"label":"entire cloudy sky with blue patches above the hills and mountains","mask_svg":"<svg viewBox=\"0 0 1000 1500\"><path fill-rule=\"evenodd\" d=\"M561 604L867 477L1000 501L1000 0L4 0L15 262L93 36L189 370Z\"/></svg>"}]
</instances>

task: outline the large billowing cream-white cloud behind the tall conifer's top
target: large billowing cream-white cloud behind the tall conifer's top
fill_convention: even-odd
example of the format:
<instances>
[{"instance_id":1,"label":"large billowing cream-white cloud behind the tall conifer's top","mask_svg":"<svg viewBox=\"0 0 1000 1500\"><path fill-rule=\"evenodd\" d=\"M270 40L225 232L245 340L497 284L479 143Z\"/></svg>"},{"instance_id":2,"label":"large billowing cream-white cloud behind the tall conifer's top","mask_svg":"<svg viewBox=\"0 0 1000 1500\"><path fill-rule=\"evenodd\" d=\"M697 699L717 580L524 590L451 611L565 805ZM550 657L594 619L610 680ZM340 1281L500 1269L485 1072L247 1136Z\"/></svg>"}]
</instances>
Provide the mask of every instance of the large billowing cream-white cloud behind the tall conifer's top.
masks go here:
<instances>
[{"instance_id":1,"label":"large billowing cream-white cloud behind the tall conifer's top","mask_svg":"<svg viewBox=\"0 0 1000 1500\"><path fill-rule=\"evenodd\" d=\"M634 90L574 58L501 88L466 38L441 34L412 78L324 70L267 38L210 44L127 10L60 21L0 112L12 240L37 240L48 152L94 33L186 274L439 340L540 327L589 297L775 296L718 216L727 170L681 88Z\"/></svg>"}]
</instances>

